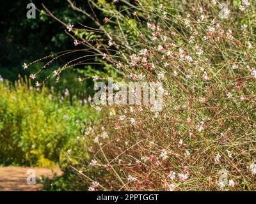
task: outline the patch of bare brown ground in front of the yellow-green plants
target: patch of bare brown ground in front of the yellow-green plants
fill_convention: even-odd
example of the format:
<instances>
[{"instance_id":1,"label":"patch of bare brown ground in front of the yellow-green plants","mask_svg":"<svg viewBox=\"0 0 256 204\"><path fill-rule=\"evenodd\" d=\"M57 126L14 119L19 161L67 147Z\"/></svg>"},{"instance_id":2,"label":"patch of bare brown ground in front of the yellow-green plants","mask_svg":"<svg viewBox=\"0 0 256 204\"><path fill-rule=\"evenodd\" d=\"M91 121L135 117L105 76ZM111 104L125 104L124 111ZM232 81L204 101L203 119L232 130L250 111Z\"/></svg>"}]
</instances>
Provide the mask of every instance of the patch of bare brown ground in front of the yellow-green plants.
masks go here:
<instances>
[{"instance_id":1,"label":"patch of bare brown ground in front of the yellow-green plants","mask_svg":"<svg viewBox=\"0 0 256 204\"><path fill-rule=\"evenodd\" d=\"M36 173L36 184L27 184L27 171L33 169ZM0 166L0 191L38 191L42 184L38 184L40 177L49 179L56 173L61 175L60 169L51 170L49 168L20 167L20 166Z\"/></svg>"}]
</instances>

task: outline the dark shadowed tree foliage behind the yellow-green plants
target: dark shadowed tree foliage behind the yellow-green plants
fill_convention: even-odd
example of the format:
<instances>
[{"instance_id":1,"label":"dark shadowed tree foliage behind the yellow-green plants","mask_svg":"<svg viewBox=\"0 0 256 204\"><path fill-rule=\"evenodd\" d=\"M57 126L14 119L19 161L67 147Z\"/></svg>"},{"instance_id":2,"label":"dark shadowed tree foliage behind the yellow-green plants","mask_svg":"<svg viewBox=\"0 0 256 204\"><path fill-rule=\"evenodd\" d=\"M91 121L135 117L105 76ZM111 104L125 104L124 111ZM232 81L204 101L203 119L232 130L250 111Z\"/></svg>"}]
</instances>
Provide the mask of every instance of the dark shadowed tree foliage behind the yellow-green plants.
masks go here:
<instances>
[{"instance_id":1,"label":"dark shadowed tree foliage behind the yellow-green plants","mask_svg":"<svg viewBox=\"0 0 256 204\"><path fill-rule=\"evenodd\" d=\"M43 11L42 3L52 11L56 17L63 20L65 23L74 24L79 22L83 25L92 25L92 20L88 20L84 15L79 15L70 8L67 1L61 0L35 0L36 18L28 19L26 14L28 12L27 4L30 1L1 1L0 6L0 75L2 78L15 82L19 78L29 76L31 73L38 71L47 60L43 60L33 64L29 69L23 69L24 63L36 61L42 57L46 57L51 54L56 54L65 50L81 49L79 45L74 47L74 40L65 34L65 27L56 20L47 17ZM87 9L86 2L78 0L77 5L82 5L84 9ZM83 52L85 55L86 53ZM79 57L79 54L75 54ZM36 76L38 82L44 80L52 70L63 66L69 59L74 59L73 54L63 55L56 61L51 62L47 69ZM100 69L99 66L95 66L89 63L86 65L86 70ZM85 87L91 84L91 80L86 80L83 83L77 83L76 78L83 74L84 66L68 69L61 75L62 80L60 83L52 80L47 80L45 85L47 87L54 87L58 92L63 92L64 89L68 89L71 96L78 96L79 98L85 98L88 96L88 92L84 91ZM72 101L71 101L72 102Z\"/></svg>"}]
</instances>

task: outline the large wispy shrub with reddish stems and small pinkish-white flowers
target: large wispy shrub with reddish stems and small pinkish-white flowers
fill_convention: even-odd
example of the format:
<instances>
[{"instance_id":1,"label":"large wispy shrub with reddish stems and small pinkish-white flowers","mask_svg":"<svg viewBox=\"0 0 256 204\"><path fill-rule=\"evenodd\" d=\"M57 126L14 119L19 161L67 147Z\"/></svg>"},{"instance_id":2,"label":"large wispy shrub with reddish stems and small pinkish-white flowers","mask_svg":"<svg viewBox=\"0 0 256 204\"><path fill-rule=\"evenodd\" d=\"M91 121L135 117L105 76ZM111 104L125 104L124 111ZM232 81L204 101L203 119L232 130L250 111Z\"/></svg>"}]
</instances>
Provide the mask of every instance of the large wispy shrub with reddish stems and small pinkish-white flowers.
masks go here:
<instances>
[{"instance_id":1,"label":"large wispy shrub with reddish stems and small pinkish-white flowers","mask_svg":"<svg viewBox=\"0 0 256 204\"><path fill-rule=\"evenodd\" d=\"M88 190L255 190L255 3L114 3L116 10L92 2L107 15L103 24L92 17L105 41L79 35L95 31L88 27L69 24L66 33L118 73L116 82L163 82L163 110L92 103L109 115L76 144L90 156L68 152Z\"/></svg>"}]
</instances>

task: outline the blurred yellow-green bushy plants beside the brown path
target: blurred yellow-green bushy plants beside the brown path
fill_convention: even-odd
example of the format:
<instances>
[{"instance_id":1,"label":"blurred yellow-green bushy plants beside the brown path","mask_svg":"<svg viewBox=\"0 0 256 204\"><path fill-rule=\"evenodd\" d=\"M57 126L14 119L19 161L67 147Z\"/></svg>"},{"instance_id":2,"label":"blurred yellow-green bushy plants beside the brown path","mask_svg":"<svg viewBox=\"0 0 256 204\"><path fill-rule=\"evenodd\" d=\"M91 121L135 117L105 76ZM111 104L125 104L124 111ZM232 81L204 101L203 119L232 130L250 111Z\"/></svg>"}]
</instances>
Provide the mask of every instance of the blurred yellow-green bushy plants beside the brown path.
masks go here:
<instances>
[{"instance_id":1,"label":"blurred yellow-green bushy plants beside the brown path","mask_svg":"<svg viewBox=\"0 0 256 204\"><path fill-rule=\"evenodd\" d=\"M0 82L0 164L53 166L65 159L61 153L76 142L81 122L90 122L86 114L92 119L93 112L62 100L53 90Z\"/></svg>"}]
</instances>

